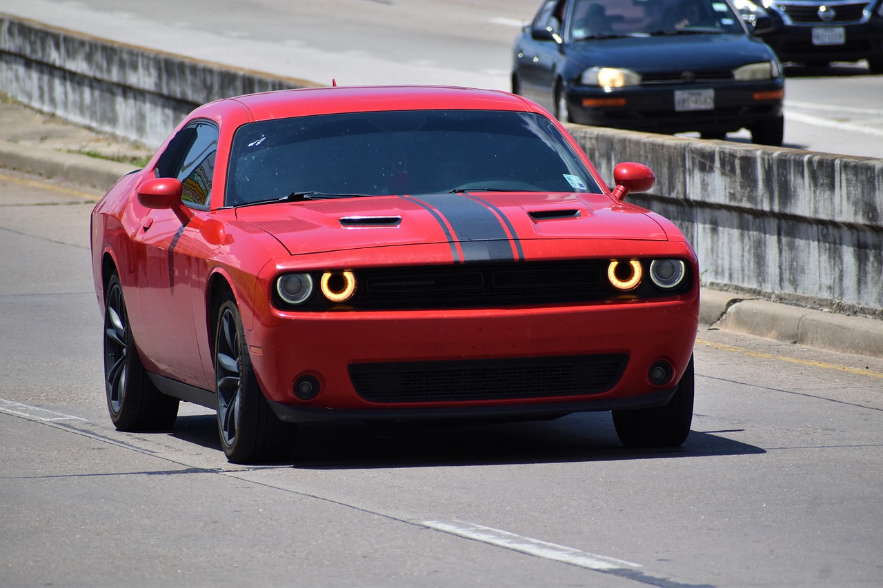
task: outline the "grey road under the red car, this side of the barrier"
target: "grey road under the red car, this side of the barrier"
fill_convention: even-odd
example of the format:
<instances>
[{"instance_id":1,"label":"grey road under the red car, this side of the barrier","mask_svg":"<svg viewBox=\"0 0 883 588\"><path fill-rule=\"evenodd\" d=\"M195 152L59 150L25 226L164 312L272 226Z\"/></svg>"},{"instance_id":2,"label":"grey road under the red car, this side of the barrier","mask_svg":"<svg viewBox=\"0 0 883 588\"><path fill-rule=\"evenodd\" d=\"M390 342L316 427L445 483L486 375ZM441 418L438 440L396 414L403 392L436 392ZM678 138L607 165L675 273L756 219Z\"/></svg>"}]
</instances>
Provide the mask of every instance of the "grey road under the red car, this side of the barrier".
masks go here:
<instances>
[{"instance_id":1,"label":"grey road under the red car, this side of the barrier","mask_svg":"<svg viewBox=\"0 0 883 588\"><path fill-rule=\"evenodd\" d=\"M309 425L228 464L211 413L117 433L94 194L0 176L0 585L883 584L883 361L701 329L690 438L607 413Z\"/></svg>"}]
</instances>

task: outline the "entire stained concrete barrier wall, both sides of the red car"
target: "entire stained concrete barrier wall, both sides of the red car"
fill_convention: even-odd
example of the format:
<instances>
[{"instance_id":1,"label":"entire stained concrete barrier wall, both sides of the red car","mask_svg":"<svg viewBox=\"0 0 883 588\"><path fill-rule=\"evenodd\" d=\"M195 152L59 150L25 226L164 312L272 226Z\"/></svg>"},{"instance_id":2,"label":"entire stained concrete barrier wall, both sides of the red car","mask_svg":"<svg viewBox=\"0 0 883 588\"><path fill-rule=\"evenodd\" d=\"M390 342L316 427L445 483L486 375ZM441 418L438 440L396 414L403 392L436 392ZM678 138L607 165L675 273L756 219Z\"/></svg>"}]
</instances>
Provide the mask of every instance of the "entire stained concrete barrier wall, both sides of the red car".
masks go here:
<instances>
[{"instance_id":1,"label":"entire stained concrete barrier wall, both sides of the red car","mask_svg":"<svg viewBox=\"0 0 883 588\"><path fill-rule=\"evenodd\" d=\"M0 15L0 90L156 146L197 105L312 82L211 64ZM712 288L883 319L883 160L571 126L601 174L656 172L629 200L691 239Z\"/></svg>"}]
</instances>

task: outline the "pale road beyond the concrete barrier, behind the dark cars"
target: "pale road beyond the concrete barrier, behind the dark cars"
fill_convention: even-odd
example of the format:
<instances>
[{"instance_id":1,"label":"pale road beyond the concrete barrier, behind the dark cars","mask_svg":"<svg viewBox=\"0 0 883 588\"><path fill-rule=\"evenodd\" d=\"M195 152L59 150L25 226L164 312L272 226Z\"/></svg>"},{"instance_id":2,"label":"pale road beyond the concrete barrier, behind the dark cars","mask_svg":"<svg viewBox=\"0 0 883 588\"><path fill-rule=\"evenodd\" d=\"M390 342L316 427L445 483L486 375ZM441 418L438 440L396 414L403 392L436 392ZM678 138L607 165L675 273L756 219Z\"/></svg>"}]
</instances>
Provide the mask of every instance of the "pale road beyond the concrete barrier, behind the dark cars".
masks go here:
<instances>
[{"instance_id":1,"label":"pale road beyond the concrete barrier, behind the dark cars","mask_svg":"<svg viewBox=\"0 0 883 588\"><path fill-rule=\"evenodd\" d=\"M509 89L510 48L539 0L4 0L88 34L330 85ZM883 76L788 67L785 145L883 157ZM730 139L747 142L748 132Z\"/></svg>"}]
</instances>

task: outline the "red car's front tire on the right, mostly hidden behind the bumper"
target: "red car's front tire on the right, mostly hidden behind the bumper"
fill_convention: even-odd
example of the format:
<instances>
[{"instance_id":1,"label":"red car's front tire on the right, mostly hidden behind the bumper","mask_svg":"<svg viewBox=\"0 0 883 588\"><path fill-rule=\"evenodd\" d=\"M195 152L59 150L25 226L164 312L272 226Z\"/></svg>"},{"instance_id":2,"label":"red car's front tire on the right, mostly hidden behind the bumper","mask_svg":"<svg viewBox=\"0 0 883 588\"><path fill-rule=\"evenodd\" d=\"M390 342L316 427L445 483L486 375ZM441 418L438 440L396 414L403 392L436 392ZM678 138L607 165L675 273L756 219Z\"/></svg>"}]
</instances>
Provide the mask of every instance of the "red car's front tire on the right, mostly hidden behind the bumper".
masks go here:
<instances>
[{"instance_id":1,"label":"red car's front tire on the right, mostly hidden behind the bumper","mask_svg":"<svg viewBox=\"0 0 883 588\"><path fill-rule=\"evenodd\" d=\"M619 440L626 447L677 447L687 440L693 420L693 396L696 388L693 358L687 364L675 395L668 403L637 411L613 411Z\"/></svg>"}]
</instances>

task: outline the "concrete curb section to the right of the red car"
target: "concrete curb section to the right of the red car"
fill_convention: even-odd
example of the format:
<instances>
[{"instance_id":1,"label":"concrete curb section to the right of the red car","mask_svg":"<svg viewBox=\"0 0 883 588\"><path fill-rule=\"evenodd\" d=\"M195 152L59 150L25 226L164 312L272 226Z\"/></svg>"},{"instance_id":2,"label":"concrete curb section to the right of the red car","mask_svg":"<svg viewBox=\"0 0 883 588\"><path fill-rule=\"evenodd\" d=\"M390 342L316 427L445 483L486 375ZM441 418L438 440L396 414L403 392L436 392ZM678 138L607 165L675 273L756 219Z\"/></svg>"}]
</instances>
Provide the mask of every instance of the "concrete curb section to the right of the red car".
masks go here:
<instances>
[{"instance_id":1,"label":"concrete curb section to the right of the red car","mask_svg":"<svg viewBox=\"0 0 883 588\"><path fill-rule=\"evenodd\" d=\"M699 322L711 328L883 359L883 320L702 290Z\"/></svg>"}]
</instances>

